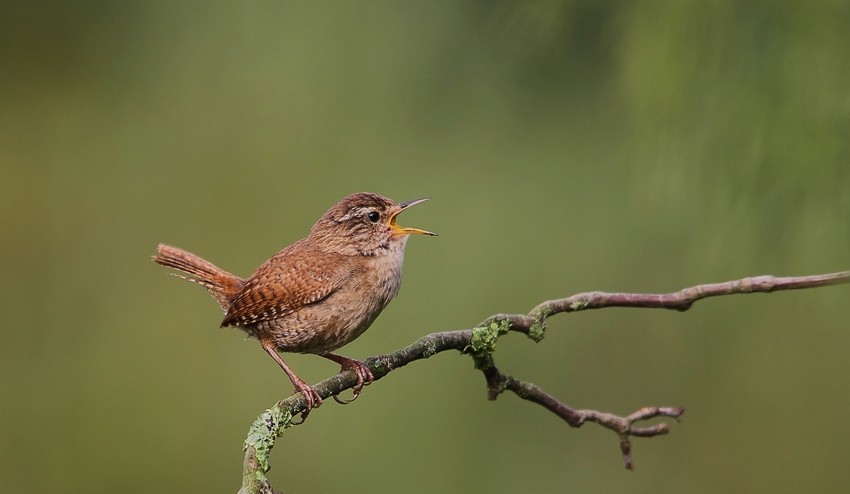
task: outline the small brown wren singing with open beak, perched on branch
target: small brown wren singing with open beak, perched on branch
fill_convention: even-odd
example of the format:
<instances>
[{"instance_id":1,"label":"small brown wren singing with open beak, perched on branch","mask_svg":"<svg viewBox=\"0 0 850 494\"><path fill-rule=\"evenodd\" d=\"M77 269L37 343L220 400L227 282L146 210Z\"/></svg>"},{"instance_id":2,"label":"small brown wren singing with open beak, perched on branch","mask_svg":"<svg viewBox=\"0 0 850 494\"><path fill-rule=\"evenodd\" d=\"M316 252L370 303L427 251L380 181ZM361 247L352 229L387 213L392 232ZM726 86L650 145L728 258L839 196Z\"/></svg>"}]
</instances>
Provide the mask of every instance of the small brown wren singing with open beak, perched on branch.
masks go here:
<instances>
[{"instance_id":1,"label":"small brown wren singing with open beak, perched on branch","mask_svg":"<svg viewBox=\"0 0 850 494\"><path fill-rule=\"evenodd\" d=\"M354 371L355 397L372 382L367 366L330 352L363 334L398 294L408 236L436 235L396 223L399 213L426 200L395 203L368 192L344 197L306 238L275 254L248 279L165 244L153 260L209 290L225 312L221 327L239 327L260 341L304 395L306 416L322 398L278 351L314 353L340 364L340 372Z\"/></svg>"}]
</instances>

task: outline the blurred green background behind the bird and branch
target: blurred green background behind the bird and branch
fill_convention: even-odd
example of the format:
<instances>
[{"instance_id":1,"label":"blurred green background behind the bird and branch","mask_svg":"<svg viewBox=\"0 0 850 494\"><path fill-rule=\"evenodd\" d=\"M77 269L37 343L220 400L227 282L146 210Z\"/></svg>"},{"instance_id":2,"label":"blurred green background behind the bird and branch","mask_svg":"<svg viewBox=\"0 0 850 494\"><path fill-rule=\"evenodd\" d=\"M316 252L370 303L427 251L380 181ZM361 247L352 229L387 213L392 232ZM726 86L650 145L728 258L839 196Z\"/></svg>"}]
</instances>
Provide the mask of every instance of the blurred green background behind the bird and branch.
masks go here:
<instances>
[{"instance_id":1,"label":"blurred green background behind the bird and branch","mask_svg":"<svg viewBox=\"0 0 850 494\"><path fill-rule=\"evenodd\" d=\"M432 196L342 353L580 291L850 268L846 2L15 2L0 8L0 491L235 492L291 386L158 242L248 275L342 196ZM850 287L562 315L500 369L636 440L485 398L441 354L290 430L286 492L850 483ZM288 362L316 382L336 367ZM404 488L399 486L403 485Z\"/></svg>"}]
</instances>

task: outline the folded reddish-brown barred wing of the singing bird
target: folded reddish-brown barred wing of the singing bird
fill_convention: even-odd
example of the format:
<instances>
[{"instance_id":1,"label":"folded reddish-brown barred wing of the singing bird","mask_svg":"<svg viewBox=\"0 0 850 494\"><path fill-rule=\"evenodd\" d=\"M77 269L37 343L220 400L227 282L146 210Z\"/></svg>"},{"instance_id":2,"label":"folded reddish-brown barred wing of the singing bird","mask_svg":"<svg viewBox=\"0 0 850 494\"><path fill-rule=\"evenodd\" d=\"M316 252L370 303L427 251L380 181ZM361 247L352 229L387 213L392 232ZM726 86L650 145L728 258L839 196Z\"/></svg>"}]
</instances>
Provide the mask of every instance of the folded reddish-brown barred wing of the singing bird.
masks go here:
<instances>
[{"instance_id":1,"label":"folded reddish-brown barred wing of the singing bird","mask_svg":"<svg viewBox=\"0 0 850 494\"><path fill-rule=\"evenodd\" d=\"M285 317L333 293L347 276L338 254L294 244L251 275L221 326L247 326Z\"/></svg>"}]
</instances>

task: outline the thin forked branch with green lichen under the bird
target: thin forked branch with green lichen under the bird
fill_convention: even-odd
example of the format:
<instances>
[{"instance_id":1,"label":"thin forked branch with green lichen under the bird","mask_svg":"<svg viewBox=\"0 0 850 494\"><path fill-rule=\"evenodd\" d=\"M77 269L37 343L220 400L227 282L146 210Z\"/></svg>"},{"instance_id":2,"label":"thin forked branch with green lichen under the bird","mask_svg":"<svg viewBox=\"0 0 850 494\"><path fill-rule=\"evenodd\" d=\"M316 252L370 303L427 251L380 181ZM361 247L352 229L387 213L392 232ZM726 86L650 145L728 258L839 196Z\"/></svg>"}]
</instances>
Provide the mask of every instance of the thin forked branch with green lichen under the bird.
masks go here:
<instances>
[{"instance_id":1,"label":"thin forked branch with green lichen under the bird","mask_svg":"<svg viewBox=\"0 0 850 494\"><path fill-rule=\"evenodd\" d=\"M637 426L644 420L653 418L678 419L685 411L683 407L645 407L625 417L596 410L573 409L539 386L504 375L495 366L493 353L498 339L510 331L523 333L534 341L543 339L546 319L552 315L577 312L587 309L606 307L640 307L652 309L671 309L685 311L694 302L720 295L769 293L778 290L798 290L821 286L850 283L850 271L825 275L777 278L757 276L724 283L712 283L684 288L674 293L606 293L586 292L571 297L549 300L538 305L528 314L497 314L472 329L431 333L413 344L387 355L378 355L367 359L364 364L375 376L375 381L390 372L422 359L427 359L447 350L458 350L470 355L475 368L484 374L487 382L488 398L495 400L504 391L511 391L522 399L537 403L546 410L563 419L571 427L581 427L585 422L593 422L617 434L620 452L627 469L632 469L632 437L653 437L667 434L669 426L659 423L649 426ZM346 371L325 379L314 386L325 399L338 395L357 384L352 371ZM266 478L271 468L268 457L275 440L283 432L295 425L293 417L306 410L306 401L294 394L277 402L272 408L261 414L245 439L245 462L243 466L242 488L239 494L274 493Z\"/></svg>"}]
</instances>

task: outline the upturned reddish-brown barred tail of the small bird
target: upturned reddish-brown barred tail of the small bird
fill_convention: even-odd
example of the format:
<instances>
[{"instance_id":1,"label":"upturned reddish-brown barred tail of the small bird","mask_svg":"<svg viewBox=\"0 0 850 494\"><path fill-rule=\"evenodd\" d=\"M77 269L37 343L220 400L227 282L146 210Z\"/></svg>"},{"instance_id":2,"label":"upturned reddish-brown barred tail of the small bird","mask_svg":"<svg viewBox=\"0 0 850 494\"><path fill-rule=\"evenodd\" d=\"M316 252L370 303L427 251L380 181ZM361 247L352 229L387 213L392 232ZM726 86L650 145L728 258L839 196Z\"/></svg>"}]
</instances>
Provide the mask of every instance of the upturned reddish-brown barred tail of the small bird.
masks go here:
<instances>
[{"instance_id":1,"label":"upturned reddish-brown barred tail of the small bird","mask_svg":"<svg viewBox=\"0 0 850 494\"><path fill-rule=\"evenodd\" d=\"M197 283L209 290L210 295L225 312L245 285L245 280L235 274L228 273L191 252L170 245L159 244L153 261L186 273L186 276L176 273L174 276Z\"/></svg>"}]
</instances>

